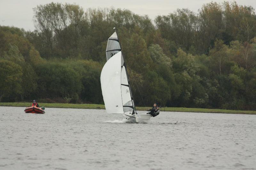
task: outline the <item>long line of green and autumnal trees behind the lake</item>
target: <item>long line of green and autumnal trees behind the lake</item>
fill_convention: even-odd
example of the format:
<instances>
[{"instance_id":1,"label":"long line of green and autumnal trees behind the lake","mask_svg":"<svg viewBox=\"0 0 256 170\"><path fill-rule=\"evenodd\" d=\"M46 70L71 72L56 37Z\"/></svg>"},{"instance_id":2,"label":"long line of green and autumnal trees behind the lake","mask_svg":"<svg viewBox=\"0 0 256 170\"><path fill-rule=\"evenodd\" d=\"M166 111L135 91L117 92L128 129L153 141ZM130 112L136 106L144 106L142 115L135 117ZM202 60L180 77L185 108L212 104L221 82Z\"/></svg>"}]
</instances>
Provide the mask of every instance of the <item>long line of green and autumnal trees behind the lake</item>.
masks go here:
<instances>
[{"instance_id":1,"label":"long line of green and autumnal trees behind the lake","mask_svg":"<svg viewBox=\"0 0 256 170\"><path fill-rule=\"evenodd\" d=\"M135 104L256 110L256 15L236 2L154 21L129 10L50 3L34 31L0 26L0 102L103 104L100 72L117 28Z\"/></svg>"}]
</instances>

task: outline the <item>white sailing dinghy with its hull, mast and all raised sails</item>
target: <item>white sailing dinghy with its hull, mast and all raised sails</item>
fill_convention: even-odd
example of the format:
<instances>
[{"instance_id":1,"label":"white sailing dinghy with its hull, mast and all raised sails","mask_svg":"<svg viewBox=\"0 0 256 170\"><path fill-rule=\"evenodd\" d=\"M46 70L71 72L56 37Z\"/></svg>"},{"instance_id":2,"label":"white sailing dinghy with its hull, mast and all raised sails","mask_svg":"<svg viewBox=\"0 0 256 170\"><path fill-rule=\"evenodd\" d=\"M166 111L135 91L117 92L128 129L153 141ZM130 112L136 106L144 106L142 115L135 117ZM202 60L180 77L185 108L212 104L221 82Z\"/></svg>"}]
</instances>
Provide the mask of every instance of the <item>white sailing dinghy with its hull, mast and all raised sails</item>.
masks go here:
<instances>
[{"instance_id":1,"label":"white sailing dinghy with its hull, mast and all raised sails","mask_svg":"<svg viewBox=\"0 0 256 170\"><path fill-rule=\"evenodd\" d=\"M151 115L137 114L127 67L116 30L108 38L106 55L107 62L102 68L100 83L107 113L123 114L129 122L149 121Z\"/></svg>"}]
</instances>

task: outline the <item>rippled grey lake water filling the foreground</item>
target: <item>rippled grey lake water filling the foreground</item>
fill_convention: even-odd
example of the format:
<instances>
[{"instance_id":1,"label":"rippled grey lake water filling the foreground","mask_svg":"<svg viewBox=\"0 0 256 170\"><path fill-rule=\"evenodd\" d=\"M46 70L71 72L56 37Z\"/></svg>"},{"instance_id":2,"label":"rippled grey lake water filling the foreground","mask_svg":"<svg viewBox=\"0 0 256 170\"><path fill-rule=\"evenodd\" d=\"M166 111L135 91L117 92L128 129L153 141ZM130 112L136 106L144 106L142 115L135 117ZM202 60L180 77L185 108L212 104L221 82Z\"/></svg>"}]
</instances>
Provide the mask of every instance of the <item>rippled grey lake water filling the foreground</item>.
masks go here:
<instances>
[{"instance_id":1,"label":"rippled grey lake water filling the foreground","mask_svg":"<svg viewBox=\"0 0 256 170\"><path fill-rule=\"evenodd\" d=\"M256 115L0 107L0 169L256 169ZM178 121L178 123L176 123Z\"/></svg>"}]
</instances>

